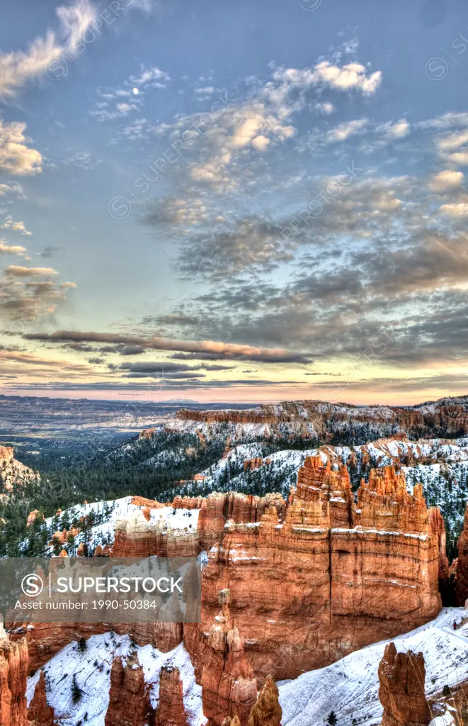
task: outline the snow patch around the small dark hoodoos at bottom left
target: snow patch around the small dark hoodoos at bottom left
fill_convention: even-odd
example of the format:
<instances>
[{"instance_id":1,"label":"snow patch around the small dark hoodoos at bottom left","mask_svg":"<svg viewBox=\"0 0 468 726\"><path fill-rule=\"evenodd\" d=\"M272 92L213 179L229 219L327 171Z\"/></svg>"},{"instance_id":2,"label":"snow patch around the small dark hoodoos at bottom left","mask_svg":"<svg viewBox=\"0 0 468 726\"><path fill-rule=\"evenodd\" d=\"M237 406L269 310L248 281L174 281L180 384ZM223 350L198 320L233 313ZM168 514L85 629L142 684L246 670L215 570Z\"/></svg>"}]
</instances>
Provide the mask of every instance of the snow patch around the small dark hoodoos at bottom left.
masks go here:
<instances>
[{"instance_id":1,"label":"snow patch around the small dark hoodoos at bottom left","mask_svg":"<svg viewBox=\"0 0 468 726\"><path fill-rule=\"evenodd\" d=\"M109 706L112 661L122 656L125 666L130 654L136 656L138 664L143 666L145 682L150 688L151 706L156 708L159 701L159 672L162 666L172 665L180 670L189 726L201 726L206 721L201 708L201 686L195 682L193 665L182 643L169 653L162 653L151 645L134 645L128 635L108 632L91 636L83 652L78 648L78 643L69 643L43 666L46 697L49 706L54 708L57 723L61 726L75 726L78 722L88 726L104 726ZM39 676L40 671L37 671L28 678L28 705L34 696ZM74 703L72 696L74 677L76 685L83 692L77 703Z\"/></svg>"}]
</instances>

